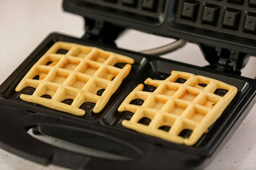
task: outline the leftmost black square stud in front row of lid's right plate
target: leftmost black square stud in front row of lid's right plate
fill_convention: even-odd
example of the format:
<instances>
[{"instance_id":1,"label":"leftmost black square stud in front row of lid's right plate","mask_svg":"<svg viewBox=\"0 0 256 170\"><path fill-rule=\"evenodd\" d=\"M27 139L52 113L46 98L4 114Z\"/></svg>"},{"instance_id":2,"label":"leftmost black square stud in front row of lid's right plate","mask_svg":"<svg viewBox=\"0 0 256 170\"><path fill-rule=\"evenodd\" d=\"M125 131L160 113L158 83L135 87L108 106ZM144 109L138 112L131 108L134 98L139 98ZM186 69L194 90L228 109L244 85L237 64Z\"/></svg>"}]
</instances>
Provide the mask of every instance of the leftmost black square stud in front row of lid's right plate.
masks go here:
<instances>
[{"instance_id":1,"label":"leftmost black square stud in front row of lid's right plate","mask_svg":"<svg viewBox=\"0 0 256 170\"><path fill-rule=\"evenodd\" d=\"M181 12L181 17L184 19L195 21L198 16L198 8L200 3L195 0L186 0L183 3L183 9Z\"/></svg>"}]
</instances>

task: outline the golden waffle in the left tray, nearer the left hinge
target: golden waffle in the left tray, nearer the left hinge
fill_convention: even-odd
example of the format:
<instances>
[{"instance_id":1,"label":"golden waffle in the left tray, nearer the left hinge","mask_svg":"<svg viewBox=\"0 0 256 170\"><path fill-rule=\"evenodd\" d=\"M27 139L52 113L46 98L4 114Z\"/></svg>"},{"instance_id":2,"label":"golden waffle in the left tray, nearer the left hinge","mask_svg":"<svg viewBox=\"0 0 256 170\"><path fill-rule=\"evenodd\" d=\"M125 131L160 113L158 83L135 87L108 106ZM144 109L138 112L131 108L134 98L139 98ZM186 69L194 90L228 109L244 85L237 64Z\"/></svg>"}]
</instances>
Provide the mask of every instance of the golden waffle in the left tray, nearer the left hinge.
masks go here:
<instances>
[{"instance_id":1,"label":"golden waffle in the left tray, nearer the left hinge","mask_svg":"<svg viewBox=\"0 0 256 170\"><path fill-rule=\"evenodd\" d=\"M116 63L129 64L117 68ZM93 112L99 113L129 74L133 63L134 59L99 48L56 42L33 65L15 91L35 88L32 95L21 94L20 98L77 116L85 114L80 109L84 102L93 102L96 104ZM70 99L71 105L65 103Z\"/></svg>"}]
</instances>

